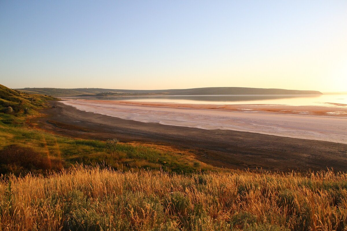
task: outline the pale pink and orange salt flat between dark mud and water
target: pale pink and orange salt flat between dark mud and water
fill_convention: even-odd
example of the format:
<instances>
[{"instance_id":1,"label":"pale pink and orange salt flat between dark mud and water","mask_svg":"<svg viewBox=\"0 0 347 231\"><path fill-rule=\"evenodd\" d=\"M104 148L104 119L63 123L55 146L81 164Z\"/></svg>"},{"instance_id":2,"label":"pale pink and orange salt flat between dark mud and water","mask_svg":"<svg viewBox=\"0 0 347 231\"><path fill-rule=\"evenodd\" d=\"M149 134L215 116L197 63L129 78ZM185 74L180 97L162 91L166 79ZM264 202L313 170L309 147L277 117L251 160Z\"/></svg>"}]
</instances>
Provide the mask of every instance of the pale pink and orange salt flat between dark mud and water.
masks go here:
<instances>
[{"instance_id":1,"label":"pale pink and orange salt flat between dark mud and water","mask_svg":"<svg viewBox=\"0 0 347 231\"><path fill-rule=\"evenodd\" d=\"M347 108L343 107L181 105L106 100L61 102L85 112L144 123L347 143Z\"/></svg>"}]
</instances>

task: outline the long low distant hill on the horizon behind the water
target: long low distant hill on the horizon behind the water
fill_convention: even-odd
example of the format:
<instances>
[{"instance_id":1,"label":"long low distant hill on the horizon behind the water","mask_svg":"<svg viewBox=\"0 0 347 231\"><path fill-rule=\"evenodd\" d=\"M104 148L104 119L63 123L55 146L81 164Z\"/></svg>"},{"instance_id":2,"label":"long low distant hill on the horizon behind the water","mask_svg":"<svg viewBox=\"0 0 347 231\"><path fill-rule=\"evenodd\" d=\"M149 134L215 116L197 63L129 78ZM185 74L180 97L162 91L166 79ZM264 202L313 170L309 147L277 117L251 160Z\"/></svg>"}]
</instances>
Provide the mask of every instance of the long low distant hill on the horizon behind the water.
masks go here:
<instances>
[{"instance_id":1,"label":"long low distant hill on the horizon behind the water","mask_svg":"<svg viewBox=\"0 0 347 231\"><path fill-rule=\"evenodd\" d=\"M122 90L104 88L22 88L17 90L53 96L100 96L101 92L103 92L103 95L322 95L320 91L246 87L205 87L167 90Z\"/></svg>"}]
</instances>

